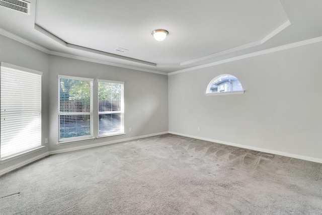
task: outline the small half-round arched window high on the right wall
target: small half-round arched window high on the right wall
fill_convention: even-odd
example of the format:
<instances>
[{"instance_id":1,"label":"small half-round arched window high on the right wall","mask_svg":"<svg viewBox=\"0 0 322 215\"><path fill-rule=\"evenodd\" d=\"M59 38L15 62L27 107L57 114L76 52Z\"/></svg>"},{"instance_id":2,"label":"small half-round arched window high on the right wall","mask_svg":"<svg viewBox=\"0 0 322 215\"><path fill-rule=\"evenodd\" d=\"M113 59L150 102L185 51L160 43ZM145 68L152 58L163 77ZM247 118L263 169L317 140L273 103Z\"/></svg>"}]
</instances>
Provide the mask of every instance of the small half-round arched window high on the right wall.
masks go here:
<instances>
[{"instance_id":1,"label":"small half-round arched window high on the right wall","mask_svg":"<svg viewBox=\"0 0 322 215\"><path fill-rule=\"evenodd\" d=\"M239 80L229 74L217 76L208 84L206 94L243 94L245 91Z\"/></svg>"}]
</instances>

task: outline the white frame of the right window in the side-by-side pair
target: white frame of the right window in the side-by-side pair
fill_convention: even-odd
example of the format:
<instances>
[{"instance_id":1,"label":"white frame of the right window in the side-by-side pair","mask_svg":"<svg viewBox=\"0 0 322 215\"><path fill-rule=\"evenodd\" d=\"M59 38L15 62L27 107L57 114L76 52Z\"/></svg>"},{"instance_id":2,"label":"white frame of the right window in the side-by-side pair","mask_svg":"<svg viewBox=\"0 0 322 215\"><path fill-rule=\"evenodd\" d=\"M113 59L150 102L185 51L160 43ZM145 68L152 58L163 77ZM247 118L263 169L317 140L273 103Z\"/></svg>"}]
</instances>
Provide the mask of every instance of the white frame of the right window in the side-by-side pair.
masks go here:
<instances>
[{"instance_id":1,"label":"white frame of the right window in the side-by-side pair","mask_svg":"<svg viewBox=\"0 0 322 215\"><path fill-rule=\"evenodd\" d=\"M99 83L112 83L112 84L121 84L121 110L120 111L99 111ZM98 129L97 129L97 138L102 138L102 137L109 137L109 136L116 136L116 135L123 135L125 134L124 131L124 82L119 82L119 81L111 81L111 80L103 80L103 79L98 79L97 80L97 122L98 122ZM99 130L100 130L100 114L112 114L112 113L120 113L121 117L121 131L118 133L110 133L107 135L100 135Z\"/></svg>"}]
</instances>

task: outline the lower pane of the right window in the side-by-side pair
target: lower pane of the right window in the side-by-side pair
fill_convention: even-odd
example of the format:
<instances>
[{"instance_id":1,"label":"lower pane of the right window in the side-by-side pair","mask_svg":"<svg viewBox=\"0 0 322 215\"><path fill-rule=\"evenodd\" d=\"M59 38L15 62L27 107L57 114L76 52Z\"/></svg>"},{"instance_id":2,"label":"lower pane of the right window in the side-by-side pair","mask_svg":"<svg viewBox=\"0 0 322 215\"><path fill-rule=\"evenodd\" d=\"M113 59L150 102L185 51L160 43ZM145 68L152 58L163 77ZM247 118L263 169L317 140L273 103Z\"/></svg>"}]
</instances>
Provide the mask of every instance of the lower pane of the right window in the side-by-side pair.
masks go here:
<instances>
[{"instance_id":1,"label":"lower pane of the right window in the side-by-side pair","mask_svg":"<svg viewBox=\"0 0 322 215\"><path fill-rule=\"evenodd\" d=\"M99 136L123 132L121 113L100 114L99 118Z\"/></svg>"}]
</instances>

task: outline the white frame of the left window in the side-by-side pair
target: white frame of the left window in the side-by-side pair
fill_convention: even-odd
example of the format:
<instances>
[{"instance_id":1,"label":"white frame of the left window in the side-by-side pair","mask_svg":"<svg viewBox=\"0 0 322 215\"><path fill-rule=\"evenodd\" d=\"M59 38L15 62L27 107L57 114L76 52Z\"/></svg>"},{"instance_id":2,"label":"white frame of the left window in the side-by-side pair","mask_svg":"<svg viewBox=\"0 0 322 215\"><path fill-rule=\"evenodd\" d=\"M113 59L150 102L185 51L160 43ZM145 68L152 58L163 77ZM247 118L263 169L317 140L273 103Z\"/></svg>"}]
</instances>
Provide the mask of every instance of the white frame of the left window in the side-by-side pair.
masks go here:
<instances>
[{"instance_id":1,"label":"white frame of the left window in the side-by-side pair","mask_svg":"<svg viewBox=\"0 0 322 215\"><path fill-rule=\"evenodd\" d=\"M78 80L78 81L89 81L91 86L91 93L90 93L90 112L61 112L60 111L60 79L71 79L71 80ZM74 77L74 76L64 76L58 75L58 144L62 144L65 142L73 142L79 140L87 140L87 139L94 139L94 129L93 129L93 87L94 87L94 79L91 78L83 78L83 77ZM84 135L84 136L76 136L76 137L66 137L60 138L60 116L63 115L89 115L90 116L90 126L91 126L91 134Z\"/></svg>"}]
</instances>

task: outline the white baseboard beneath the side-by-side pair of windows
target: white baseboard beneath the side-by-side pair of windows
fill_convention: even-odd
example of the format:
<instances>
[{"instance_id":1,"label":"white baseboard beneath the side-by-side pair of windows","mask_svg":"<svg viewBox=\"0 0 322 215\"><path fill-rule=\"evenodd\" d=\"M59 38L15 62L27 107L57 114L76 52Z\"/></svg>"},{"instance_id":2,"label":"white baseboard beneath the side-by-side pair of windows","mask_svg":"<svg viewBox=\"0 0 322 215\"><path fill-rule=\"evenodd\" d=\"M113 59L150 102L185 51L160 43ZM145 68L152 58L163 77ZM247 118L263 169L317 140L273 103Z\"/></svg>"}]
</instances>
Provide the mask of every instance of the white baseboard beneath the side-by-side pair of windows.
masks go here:
<instances>
[{"instance_id":1,"label":"white baseboard beneath the side-by-side pair of windows","mask_svg":"<svg viewBox=\"0 0 322 215\"><path fill-rule=\"evenodd\" d=\"M140 139L140 138L144 138L144 137L157 136L157 135L166 134L166 133L169 133L169 132L165 131L165 132L160 132L160 133L152 133L152 134L147 134L147 135L142 135L142 136L135 136L135 137L130 137L130 138L100 142L99 144L90 144L90 145L86 145L86 146L55 150L55 151L50 151L49 155L54 155L54 154L59 154L59 153L64 153L64 152L72 152L75 150L88 149L88 148L92 148L92 147L100 147L100 146L105 146L105 145L109 145L109 144L116 144L117 142L124 142L124 141L133 140L133 139Z\"/></svg>"}]
</instances>

